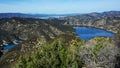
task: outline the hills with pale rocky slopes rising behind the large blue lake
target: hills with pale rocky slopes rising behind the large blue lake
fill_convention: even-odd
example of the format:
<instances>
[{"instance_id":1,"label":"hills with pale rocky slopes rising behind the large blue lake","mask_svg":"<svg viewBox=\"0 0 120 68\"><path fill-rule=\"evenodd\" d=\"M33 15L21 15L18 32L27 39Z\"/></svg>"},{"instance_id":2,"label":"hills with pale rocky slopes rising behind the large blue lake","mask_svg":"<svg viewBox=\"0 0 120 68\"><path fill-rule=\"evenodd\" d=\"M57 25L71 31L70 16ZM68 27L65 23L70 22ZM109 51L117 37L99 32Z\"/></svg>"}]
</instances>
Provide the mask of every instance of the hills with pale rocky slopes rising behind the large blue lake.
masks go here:
<instances>
[{"instance_id":1,"label":"hills with pale rocky slopes rising behind the large blue lake","mask_svg":"<svg viewBox=\"0 0 120 68\"><path fill-rule=\"evenodd\" d=\"M120 26L120 11L88 13L60 18L64 25L97 27L117 33Z\"/></svg>"}]
</instances>

